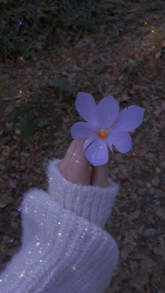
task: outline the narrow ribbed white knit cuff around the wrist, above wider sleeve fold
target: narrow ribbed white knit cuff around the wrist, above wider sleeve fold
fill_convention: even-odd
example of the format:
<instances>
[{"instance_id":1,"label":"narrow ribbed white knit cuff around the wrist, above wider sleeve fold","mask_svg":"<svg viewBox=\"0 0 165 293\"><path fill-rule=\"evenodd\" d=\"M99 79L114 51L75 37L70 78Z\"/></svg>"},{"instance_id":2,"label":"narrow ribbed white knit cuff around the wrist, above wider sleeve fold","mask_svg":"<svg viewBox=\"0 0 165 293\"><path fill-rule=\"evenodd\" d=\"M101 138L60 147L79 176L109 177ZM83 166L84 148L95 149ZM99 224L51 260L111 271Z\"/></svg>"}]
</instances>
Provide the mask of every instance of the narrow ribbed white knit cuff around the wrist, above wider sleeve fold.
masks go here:
<instances>
[{"instance_id":1,"label":"narrow ribbed white knit cuff around the wrist, above wider sleeve fold","mask_svg":"<svg viewBox=\"0 0 165 293\"><path fill-rule=\"evenodd\" d=\"M110 217L115 197L120 188L119 184L110 178L108 178L108 187L71 183L58 169L57 164L61 161L53 158L46 166L50 196L63 208L72 210L89 222L103 227Z\"/></svg>"}]
</instances>

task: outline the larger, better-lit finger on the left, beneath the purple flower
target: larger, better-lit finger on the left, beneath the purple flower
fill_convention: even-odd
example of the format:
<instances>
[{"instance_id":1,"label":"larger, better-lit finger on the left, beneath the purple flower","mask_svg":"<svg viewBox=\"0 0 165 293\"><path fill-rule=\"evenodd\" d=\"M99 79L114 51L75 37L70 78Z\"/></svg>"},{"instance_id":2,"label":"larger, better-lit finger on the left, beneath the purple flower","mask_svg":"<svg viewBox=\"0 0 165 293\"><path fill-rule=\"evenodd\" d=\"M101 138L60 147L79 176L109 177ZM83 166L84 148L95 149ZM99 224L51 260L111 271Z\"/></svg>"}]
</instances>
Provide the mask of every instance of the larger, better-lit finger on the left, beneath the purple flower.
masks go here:
<instances>
[{"instance_id":1,"label":"larger, better-lit finger on the left, beneath the purple flower","mask_svg":"<svg viewBox=\"0 0 165 293\"><path fill-rule=\"evenodd\" d=\"M64 178L71 183L89 185L91 167L83 151L84 142L85 139L72 141L58 168Z\"/></svg>"}]
</instances>

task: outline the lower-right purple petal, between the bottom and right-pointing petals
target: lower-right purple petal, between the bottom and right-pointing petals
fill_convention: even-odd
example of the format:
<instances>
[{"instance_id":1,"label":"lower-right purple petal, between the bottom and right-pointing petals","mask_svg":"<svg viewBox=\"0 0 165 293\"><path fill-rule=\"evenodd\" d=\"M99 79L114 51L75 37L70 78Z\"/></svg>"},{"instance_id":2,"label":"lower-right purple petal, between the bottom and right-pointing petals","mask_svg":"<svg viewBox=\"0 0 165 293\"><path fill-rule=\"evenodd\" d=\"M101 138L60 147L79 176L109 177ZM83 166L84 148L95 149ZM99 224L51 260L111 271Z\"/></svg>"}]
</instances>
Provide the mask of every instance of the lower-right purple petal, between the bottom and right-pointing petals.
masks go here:
<instances>
[{"instance_id":1,"label":"lower-right purple petal, between the bottom and right-pointing petals","mask_svg":"<svg viewBox=\"0 0 165 293\"><path fill-rule=\"evenodd\" d=\"M131 136L127 132L112 129L108 135L108 139L122 154L131 150Z\"/></svg>"}]
</instances>

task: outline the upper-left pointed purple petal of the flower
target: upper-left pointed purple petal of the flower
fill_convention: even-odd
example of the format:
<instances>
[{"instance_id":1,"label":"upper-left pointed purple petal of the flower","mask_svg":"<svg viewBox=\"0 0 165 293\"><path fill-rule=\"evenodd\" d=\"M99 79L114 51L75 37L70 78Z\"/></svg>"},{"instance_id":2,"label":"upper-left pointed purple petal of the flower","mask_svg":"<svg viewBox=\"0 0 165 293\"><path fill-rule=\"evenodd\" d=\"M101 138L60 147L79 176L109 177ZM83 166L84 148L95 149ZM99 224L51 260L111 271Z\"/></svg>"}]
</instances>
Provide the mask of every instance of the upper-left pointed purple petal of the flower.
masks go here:
<instances>
[{"instance_id":1,"label":"upper-left pointed purple petal of the flower","mask_svg":"<svg viewBox=\"0 0 165 293\"><path fill-rule=\"evenodd\" d=\"M76 97L76 109L80 116L87 122L97 124L96 121L96 102L92 94L88 92L78 92Z\"/></svg>"}]
</instances>

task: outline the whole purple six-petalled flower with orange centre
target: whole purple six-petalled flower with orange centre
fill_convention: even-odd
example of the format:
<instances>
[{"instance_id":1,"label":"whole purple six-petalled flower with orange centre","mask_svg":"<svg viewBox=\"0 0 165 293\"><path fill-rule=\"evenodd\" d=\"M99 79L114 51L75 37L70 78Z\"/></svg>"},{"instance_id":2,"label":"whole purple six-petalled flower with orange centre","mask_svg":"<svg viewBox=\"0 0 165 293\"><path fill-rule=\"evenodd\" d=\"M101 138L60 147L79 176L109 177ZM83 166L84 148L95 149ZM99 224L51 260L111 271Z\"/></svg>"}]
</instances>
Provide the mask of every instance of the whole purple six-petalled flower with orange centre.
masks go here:
<instances>
[{"instance_id":1,"label":"whole purple six-petalled flower with orange centre","mask_svg":"<svg viewBox=\"0 0 165 293\"><path fill-rule=\"evenodd\" d=\"M136 105L120 111L119 103L112 96L101 99L96 105L92 94L87 92L78 92L76 109L87 122L73 124L71 135L74 139L86 139L85 157L94 166L108 162L108 148L113 152L113 145L123 154L131 150L128 132L142 123L145 112L145 108Z\"/></svg>"}]
</instances>

